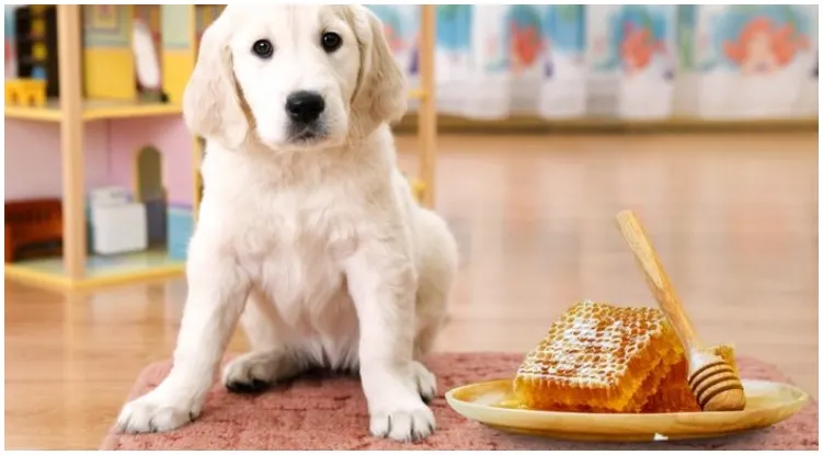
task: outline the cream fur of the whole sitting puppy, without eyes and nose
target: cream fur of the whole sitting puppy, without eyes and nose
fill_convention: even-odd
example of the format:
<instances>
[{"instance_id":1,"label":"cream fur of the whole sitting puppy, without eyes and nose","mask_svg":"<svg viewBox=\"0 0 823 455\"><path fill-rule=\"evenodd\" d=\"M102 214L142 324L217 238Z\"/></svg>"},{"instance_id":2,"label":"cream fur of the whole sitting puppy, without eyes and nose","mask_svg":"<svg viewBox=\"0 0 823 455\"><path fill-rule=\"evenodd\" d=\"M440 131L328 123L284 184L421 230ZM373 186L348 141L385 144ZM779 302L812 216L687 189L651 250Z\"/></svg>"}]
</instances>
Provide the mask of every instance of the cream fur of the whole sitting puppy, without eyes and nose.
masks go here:
<instances>
[{"instance_id":1,"label":"cream fur of the whole sitting puppy, without eyes and nose","mask_svg":"<svg viewBox=\"0 0 823 455\"><path fill-rule=\"evenodd\" d=\"M329 30L343 38L333 54L319 46ZM261 37L274 43L268 60L250 52ZM323 95L323 140L289 141L284 105L297 90ZM251 351L225 384L354 369L373 434L433 431L435 378L420 359L444 322L457 247L397 169L387 122L404 110L402 73L363 7L229 5L205 32L184 96L207 140L205 194L174 366L124 407L122 431L195 419L238 321Z\"/></svg>"}]
</instances>

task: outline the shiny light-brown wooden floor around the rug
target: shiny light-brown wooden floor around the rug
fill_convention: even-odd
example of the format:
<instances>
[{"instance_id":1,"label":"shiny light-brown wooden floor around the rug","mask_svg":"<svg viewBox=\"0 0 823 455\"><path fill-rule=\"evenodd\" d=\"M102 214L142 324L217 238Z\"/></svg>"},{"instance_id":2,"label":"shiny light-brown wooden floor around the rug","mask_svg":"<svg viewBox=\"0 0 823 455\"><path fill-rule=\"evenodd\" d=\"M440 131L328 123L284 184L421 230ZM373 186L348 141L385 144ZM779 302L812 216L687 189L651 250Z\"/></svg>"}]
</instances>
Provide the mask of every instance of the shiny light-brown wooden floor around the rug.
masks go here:
<instances>
[{"instance_id":1,"label":"shiny light-brown wooden floor around the rug","mask_svg":"<svg viewBox=\"0 0 823 455\"><path fill-rule=\"evenodd\" d=\"M818 396L816 134L439 149L438 209L464 259L441 350L524 352L579 299L653 305L613 221L633 208L704 338ZM7 448L96 447L138 372L172 352L184 296L180 281L70 296L7 282Z\"/></svg>"}]
</instances>

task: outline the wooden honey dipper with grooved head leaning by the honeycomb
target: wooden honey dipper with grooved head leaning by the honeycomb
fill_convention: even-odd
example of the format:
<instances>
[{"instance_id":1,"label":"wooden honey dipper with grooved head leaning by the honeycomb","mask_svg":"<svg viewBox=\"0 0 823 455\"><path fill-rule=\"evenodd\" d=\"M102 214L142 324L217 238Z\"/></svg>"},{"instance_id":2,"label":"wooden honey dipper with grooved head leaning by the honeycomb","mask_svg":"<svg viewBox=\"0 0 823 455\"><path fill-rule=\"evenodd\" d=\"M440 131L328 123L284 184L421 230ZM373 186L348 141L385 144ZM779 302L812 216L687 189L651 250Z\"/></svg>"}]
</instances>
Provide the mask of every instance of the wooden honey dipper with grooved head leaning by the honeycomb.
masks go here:
<instances>
[{"instance_id":1,"label":"wooden honey dipper with grooved head leaning by the honeycomb","mask_svg":"<svg viewBox=\"0 0 823 455\"><path fill-rule=\"evenodd\" d=\"M739 411L746 406L740 377L724 360L702 348L691 321L668 281L658 253L631 211L617 214L617 225L635 253L654 298L686 350L688 385L704 411Z\"/></svg>"}]
</instances>

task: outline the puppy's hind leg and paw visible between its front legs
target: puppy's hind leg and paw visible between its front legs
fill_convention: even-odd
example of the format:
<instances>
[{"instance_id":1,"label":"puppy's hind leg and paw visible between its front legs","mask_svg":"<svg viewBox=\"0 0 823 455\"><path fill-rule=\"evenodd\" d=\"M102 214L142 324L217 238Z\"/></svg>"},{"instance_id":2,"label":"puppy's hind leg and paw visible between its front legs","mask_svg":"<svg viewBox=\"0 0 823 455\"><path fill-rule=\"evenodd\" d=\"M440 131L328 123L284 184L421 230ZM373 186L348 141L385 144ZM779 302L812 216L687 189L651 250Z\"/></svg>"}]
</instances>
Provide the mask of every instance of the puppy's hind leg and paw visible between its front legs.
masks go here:
<instances>
[{"instance_id":1,"label":"puppy's hind leg and paw visible between its front legs","mask_svg":"<svg viewBox=\"0 0 823 455\"><path fill-rule=\"evenodd\" d=\"M240 322L251 351L232 360L222 372L222 384L236 394L263 391L271 385L302 373L302 356L286 343L279 316L259 291L253 291Z\"/></svg>"}]
</instances>

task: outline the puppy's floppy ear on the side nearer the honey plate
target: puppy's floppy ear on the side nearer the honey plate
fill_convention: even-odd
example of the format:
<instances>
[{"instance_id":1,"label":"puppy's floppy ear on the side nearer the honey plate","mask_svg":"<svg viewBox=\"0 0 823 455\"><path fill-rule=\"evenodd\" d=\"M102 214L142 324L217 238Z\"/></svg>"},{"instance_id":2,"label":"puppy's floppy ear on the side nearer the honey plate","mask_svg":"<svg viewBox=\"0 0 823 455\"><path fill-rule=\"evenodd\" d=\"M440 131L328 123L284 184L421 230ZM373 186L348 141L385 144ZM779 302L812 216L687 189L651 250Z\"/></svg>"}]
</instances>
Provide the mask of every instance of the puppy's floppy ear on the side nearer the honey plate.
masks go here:
<instances>
[{"instance_id":1,"label":"puppy's floppy ear on the side nearer the honey plate","mask_svg":"<svg viewBox=\"0 0 823 455\"><path fill-rule=\"evenodd\" d=\"M405 114L405 77L391 55L380 20L366 7L353 8L361 69L352 106L367 133L382 122L396 122Z\"/></svg>"}]
</instances>

